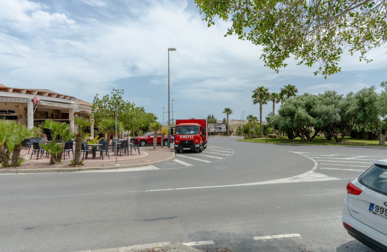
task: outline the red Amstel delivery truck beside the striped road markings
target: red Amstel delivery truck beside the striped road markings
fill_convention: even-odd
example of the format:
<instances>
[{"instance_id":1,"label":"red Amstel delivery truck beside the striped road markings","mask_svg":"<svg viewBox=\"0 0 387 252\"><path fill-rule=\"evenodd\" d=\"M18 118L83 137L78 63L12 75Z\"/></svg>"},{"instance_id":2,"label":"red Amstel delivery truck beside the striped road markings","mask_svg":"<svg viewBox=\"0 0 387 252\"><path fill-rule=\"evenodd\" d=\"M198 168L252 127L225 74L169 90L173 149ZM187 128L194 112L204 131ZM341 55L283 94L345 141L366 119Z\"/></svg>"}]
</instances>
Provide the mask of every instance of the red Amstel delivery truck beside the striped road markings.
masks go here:
<instances>
[{"instance_id":1,"label":"red Amstel delivery truck beside the striped road markings","mask_svg":"<svg viewBox=\"0 0 387 252\"><path fill-rule=\"evenodd\" d=\"M177 153L181 150L202 152L207 147L208 121L207 119L176 120L173 135Z\"/></svg>"}]
</instances>

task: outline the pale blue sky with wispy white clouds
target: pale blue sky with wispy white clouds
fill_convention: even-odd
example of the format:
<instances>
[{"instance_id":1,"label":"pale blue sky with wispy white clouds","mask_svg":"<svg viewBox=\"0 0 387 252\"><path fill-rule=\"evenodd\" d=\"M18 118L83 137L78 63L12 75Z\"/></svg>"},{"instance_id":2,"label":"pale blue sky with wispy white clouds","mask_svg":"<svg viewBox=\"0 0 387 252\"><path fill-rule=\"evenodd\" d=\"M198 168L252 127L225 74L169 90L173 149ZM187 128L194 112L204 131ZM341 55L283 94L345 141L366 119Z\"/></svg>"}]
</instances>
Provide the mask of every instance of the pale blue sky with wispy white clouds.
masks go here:
<instances>
[{"instance_id":1,"label":"pale blue sky with wispy white clouds","mask_svg":"<svg viewBox=\"0 0 387 252\"><path fill-rule=\"evenodd\" d=\"M168 48L173 118L259 118L253 89L270 92L295 85L300 94L340 94L387 81L385 46L368 53L371 63L344 55L342 71L314 75L318 66L293 60L277 74L259 59L260 46L224 37L228 23L207 27L194 0L2 0L0 83L50 89L92 103L113 88L124 99L168 121ZM276 111L279 104L276 104ZM172 111L172 103L170 103ZM272 111L264 105L263 118ZM171 116L172 118L172 113Z\"/></svg>"}]
</instances>

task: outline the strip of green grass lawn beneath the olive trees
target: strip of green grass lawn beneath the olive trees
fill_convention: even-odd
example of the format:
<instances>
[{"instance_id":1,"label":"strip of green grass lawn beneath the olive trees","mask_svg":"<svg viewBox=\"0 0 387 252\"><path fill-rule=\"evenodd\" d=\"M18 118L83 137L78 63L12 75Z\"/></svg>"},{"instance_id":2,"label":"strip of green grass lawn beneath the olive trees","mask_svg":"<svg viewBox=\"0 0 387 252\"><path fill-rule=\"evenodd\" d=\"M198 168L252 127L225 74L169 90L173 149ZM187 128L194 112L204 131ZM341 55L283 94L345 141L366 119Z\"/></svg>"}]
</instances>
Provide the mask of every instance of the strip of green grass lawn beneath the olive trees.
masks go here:
<instances>
[{"instance_id":1,"label":"strip of green grass lawn beneath the olive trees","mask_svg":"<svg viewBox=\"0 0 387 252\"><path fill-rule=\"evenodd\" d=\"M315 137L312 141L305 141L301 143L300 137L295 139L281 139L281 138L254 138L254 139L238 139L240 142L259 142L267 144L302 144L302 145L341 145L336 143L334 139L328 141L325 137ZM267 141L267 142L266 142ZM345 146L379 146L379 140L357 139L352 137L344 137L342 145Z\"/></svg>"}]
</instances>

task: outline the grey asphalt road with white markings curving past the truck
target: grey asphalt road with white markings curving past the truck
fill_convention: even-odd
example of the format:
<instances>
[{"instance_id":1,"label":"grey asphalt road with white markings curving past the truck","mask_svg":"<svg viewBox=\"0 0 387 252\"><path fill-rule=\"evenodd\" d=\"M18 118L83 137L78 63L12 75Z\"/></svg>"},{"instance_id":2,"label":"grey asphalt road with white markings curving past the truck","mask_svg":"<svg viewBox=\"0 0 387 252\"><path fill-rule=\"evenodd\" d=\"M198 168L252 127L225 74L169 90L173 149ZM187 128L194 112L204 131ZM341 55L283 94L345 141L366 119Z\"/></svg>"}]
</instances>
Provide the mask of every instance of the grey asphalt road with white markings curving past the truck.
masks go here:
<instances>
[{"instance_id":1,"label":"grey asphalt road with white markings curving past the truck","mask_svg":"<svg viewBox=\"0 0 387 252\"><path fill-rule=\"evenodd\" d=\"M212 137L202 153L141 171L0 175L0 250L373 251L344 230L342 201L387 149L235 139Z\"/></svg>"}]
</instances>

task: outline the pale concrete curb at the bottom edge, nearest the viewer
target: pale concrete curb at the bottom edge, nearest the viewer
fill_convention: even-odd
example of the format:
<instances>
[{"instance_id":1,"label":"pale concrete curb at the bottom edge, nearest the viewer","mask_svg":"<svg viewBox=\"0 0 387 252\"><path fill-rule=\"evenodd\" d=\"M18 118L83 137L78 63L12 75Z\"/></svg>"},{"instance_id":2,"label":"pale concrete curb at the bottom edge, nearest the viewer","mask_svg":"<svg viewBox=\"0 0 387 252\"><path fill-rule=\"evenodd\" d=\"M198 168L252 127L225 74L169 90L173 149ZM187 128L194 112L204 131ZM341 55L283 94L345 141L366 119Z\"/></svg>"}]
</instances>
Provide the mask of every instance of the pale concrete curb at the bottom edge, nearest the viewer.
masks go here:
<instances>
[{"instance_id":1,"label":"pale concrete curb at the bottom edge, nearest the viewer","mask_svg":"<svg viewBox=\"0 0 387 252\"><path fill-rule=\"evenodd\" d=\"M175 244L173 244L172 242L158 242L158 243L149 243L149 244L142 244L142 245L133 245L133 246L127 246L127 247L79 250L79 251L73 251L73 252L124 252L124 251L134 251L134 250L153 249L153 248L162 248L162 247L177 247L187 252L201 252L200 250L194 249L192 247L188 247L187 245L184 245L183 243L180 243L180 242L176 242Z\"/></svg>"}]
</instances>

